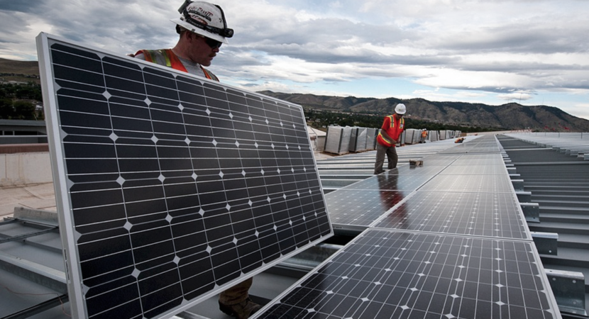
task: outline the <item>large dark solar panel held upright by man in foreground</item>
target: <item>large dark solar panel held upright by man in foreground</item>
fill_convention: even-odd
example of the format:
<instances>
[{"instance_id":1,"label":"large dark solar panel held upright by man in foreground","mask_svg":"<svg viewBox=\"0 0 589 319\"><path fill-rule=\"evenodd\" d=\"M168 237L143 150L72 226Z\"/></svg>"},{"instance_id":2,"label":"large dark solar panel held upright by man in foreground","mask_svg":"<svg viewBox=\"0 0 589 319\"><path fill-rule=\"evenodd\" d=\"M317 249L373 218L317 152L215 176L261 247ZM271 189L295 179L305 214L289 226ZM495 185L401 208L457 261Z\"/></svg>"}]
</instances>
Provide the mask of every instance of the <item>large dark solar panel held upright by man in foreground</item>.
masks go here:
<instances>
[{"instance_id":1,"label":"large dark solar panel held upright by man in foreground","mask_svg":"<svg viewBox=\"0 0 589 319\"><path fill-rule=\"evenodd\" d=\"M332 235L300 106L37 40L75 318L170 316Z\"/></svg>"}]
</instances>

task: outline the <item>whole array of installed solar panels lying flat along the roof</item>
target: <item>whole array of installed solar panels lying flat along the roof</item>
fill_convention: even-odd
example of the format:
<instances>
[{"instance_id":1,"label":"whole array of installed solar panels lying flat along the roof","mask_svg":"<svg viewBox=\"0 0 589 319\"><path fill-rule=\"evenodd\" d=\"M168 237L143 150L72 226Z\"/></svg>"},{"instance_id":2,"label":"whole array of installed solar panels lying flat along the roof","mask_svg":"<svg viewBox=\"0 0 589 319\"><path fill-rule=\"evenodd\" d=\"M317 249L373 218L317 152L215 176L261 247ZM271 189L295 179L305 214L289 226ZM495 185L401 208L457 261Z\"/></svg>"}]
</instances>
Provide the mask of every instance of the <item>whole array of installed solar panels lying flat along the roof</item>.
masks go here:
<instances>
[{"instance_id":1,"label":"whole array of installed solar panels lying flat along the roof","mask_svg":"<svg viewBox=\"0 0 589 319\"><path fill-rule=\"evenodd\" d=\"M327 194L359 234L255 318L561 318L495 137L469 142Z\"/></svg>"}]
</instances>

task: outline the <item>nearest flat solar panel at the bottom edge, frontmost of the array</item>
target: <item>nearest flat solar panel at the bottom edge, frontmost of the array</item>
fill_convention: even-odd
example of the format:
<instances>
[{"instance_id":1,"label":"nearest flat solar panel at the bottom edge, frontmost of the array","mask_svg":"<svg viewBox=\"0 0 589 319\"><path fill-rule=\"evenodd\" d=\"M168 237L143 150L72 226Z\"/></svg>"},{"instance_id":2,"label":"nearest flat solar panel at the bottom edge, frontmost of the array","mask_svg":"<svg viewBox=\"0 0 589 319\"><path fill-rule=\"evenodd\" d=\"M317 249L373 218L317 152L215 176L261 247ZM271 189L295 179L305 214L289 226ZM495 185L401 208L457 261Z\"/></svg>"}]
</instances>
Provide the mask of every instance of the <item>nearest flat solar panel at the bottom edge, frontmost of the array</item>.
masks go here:
<instances>
[{"instance_id":1,"label":"nearest flat solar panel at the bottom edge, frontmost of the array","mask_svg":"<svg viewBox=\"0 0 589 319\"><path fill-rule=\"evenodd\" d=\"M560 318L533 245L368 229L255 318Z\"/></svg>"}]
</instances>

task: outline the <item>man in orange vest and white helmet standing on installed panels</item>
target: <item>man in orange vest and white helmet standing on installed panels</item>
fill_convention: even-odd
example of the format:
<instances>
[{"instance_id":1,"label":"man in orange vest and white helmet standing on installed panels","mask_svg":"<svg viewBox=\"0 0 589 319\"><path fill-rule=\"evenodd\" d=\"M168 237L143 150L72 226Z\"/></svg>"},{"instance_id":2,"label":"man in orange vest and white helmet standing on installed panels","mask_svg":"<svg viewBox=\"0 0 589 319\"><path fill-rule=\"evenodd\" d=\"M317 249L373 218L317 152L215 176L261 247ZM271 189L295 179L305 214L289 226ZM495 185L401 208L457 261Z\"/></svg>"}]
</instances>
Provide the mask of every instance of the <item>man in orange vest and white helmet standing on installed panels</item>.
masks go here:
<instances>
[{"instance_id":1,"label":"man in orange vest and white helmet standing on installed panels","mask_svg":"<svg viewBox=\"0 0 589 319\"><path fill-rule=\"evenodd\" d=\"M397 167L399 157L395 146L401 141L401 133L405 128L403 114L407 111L404 104L399 103L395 106L395 114L386 116L385 121L380 127L380 132L376 138L376 162L374 164L374 174L385 172L382 165L385 163L387 155L388 169Z\"/></svg>"}]
</instances>

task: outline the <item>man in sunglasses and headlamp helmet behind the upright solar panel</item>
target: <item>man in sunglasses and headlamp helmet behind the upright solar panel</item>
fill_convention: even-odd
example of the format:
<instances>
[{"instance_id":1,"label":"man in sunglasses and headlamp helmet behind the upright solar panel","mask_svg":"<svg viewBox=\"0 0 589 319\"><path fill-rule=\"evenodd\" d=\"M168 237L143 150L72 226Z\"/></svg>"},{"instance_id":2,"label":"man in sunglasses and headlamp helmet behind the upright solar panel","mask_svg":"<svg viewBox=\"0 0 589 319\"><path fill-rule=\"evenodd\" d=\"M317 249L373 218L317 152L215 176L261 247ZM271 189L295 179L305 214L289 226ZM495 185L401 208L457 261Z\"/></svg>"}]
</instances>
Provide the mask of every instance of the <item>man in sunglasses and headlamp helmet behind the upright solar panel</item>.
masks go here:
<instances>
[{"instance_id":1,"label":"man in sunglasses and headlamp helmet behind the upright solar panel","mask_svg":"<svg viewBox=\"0 0 589 319\"><path fill-rule=\"evenodd\" d=\"M173 19L180 35L175 47L161 50L139 50L134 56L214 81L219 79L204 67L209 67L226 38L233 36L221 6L203 1L189 1L178 9L180 18ZM219 294L219 309L238 319L246 319L260 305L249 298L253 279L246 279Z\"/></svg>"}]
</instances>

